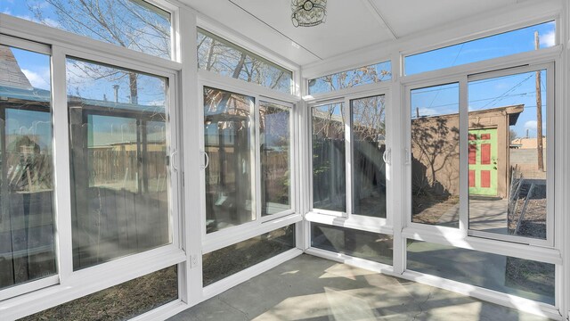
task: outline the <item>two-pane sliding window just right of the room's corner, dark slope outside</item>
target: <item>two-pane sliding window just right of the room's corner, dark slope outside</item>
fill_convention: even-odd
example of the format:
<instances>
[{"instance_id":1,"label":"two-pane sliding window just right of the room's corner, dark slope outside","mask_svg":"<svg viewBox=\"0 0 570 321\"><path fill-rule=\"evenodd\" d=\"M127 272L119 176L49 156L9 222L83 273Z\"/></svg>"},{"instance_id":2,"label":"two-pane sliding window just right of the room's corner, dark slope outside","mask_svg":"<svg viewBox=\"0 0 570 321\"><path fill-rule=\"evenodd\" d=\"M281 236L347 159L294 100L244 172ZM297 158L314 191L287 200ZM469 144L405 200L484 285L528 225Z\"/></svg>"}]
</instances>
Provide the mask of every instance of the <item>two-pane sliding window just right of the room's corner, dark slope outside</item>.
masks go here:
<instances>
[{"instance_id":1,"label":"two-pane sliding window just right of the room's corner, dark slope outside","mask_svg":"<svg viewBox=\"0 0 570 321\"><path fill-rule=\"evenodd\" d=\"M387 218L386 95L349 103L311 108L313 209Z\"/></svg>"}]
</instances>

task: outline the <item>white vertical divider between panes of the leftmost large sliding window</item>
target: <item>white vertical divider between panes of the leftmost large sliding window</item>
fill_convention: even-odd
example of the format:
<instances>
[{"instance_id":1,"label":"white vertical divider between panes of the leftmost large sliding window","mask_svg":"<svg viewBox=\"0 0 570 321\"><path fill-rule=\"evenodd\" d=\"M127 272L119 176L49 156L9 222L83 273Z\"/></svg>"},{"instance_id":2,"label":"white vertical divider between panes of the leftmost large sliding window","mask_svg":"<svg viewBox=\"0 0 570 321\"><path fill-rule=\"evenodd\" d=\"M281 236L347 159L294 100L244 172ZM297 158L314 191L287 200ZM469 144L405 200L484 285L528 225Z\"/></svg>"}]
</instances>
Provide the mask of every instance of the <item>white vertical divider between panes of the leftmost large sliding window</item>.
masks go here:
<instances>
[{"instance_id":1,"label":"white vertical divider between panes of the leftmost large sliding window","mask_svg":"<svg viewBox=\"0 0 570 321\"><path fill-rule=\"evenodd\" d=\"M55 244L60 283L66 284L73 273L71 236L71 181L69 163L69 115L66 90L66 54L61 47L52 47L52 117L55 169Z\"/></svg>"}]
</instances>

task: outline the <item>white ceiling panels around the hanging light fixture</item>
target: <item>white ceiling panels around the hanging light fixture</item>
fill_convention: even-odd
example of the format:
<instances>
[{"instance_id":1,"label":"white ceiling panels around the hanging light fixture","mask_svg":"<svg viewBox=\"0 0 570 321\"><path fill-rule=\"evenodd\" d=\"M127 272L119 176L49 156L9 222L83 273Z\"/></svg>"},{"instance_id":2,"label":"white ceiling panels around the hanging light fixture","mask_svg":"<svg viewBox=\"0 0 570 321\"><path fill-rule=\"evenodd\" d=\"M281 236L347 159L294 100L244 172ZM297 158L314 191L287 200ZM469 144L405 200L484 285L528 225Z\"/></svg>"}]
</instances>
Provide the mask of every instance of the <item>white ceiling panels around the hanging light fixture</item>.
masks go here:
<instances>
[{"instance_id":1,"label":"white ceiling panels around the hanging light fixture","mask_svg":"<svg viewBox=\"0 0 570 321\"><path fill-rule=\"evenodd\" d=\"M493 12L523 0L329 0L327 20L293 27L290 0L181 0L209 20L305 65Z\"/></svg>"}]
</instances>

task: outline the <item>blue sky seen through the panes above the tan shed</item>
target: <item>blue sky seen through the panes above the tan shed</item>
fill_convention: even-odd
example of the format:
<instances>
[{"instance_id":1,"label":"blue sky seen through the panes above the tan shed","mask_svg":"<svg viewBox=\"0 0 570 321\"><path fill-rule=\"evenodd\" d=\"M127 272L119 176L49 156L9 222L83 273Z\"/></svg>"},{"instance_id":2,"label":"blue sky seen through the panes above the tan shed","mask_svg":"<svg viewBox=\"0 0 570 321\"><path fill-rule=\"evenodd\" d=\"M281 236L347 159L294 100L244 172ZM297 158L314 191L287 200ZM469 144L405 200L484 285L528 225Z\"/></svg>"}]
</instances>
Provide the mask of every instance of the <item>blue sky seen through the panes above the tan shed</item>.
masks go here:
<instances>
[{"instance_id":1,"label":"blue sky seen through the panes above the tan shed","mask_svg":"<svg viewBox=\"0 0 570 321\"><path fill-rule=\"evenodd\" d=\"M493 37L477 39L465 44L452 45L428 53L419 53L405 58L405 70L408 75L479 62L485 59L501 57L513 53L534 50L534 31L539 32L540 47L555 45L556 25L546 22L540 25L518 29ZM542 122L545 125L547 116L547 75L541 72ZM535 72L512 76L485 79L472 82L468 86L469 111L492 109L513 104L525 104L523 111L512 126L517 136L536 137L536 76ZM428 88L420 88L411 92L411 116L435 116L459 112L459 86L447 84ZM546 126L543 126L546 135Z\"/></svg>"}]
</instances>

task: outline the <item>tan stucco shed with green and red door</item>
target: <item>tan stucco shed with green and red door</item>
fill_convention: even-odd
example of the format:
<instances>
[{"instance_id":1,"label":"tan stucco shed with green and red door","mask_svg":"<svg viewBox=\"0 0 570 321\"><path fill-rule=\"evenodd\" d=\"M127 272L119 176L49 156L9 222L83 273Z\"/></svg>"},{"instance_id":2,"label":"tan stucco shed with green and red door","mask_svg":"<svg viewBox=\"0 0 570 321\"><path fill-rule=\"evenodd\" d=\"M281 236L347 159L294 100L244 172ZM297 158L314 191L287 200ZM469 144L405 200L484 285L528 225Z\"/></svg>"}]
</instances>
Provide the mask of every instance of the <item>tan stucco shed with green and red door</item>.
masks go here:
<instances>
[{"instance_id":1,"label":"tan stucco shed with green and red door","mask_svg":"<svg viewBox=\"0 0 570 321\"><path fill-rule=\"evenodd\" d=\"M510 179L509 126L524 105L469 111L469 193L505 197ZM412 188L459 196L459 114L411 120Z\"/></svg>"}]
</instances>

